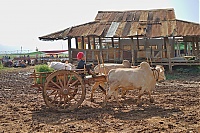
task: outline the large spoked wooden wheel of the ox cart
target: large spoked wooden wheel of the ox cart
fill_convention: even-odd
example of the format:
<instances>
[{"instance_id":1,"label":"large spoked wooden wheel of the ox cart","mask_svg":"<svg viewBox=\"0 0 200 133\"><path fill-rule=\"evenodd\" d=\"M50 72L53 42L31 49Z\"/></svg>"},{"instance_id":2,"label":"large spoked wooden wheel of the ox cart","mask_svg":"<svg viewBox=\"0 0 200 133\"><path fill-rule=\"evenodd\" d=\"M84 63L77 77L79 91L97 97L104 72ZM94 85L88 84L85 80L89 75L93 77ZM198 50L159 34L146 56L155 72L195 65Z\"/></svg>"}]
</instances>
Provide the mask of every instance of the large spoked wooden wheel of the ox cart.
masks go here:
<instances>
[{"instance_id":1,"label":"large spoked wooden wheel of the ox cart","mask_svg":"<svg viewBox=\"0 0 200 133\"><path fill-rule=\"evenodd\" d=\"M46 78L43 98L47 106L61 111L78 108L85 99L86 89L76 72L59 70Z\"/></svg>"}]
</instances>

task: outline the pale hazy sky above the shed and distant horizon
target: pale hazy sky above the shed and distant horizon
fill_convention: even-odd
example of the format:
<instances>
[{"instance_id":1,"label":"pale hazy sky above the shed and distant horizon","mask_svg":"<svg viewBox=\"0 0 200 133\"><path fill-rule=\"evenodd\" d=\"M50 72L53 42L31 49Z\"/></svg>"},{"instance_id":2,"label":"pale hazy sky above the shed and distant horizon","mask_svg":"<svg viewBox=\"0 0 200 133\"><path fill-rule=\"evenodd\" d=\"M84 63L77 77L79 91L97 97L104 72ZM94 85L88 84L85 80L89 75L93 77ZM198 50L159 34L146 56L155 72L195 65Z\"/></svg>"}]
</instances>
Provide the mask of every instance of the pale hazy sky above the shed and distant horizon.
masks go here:
<instances>
[{"instance_id":1,"label":"pale hazy sky above the shed and distant horizon","mask_svg":"<svg viewBox=\"0 0 200 133\"><path fill-rule=\"evenodd\" d=\"M199 0L1 0L0 54L67 49L38 37L95 19L98 11L174 8L177 19L200 23Z\"/></svg>"}]
</instances>

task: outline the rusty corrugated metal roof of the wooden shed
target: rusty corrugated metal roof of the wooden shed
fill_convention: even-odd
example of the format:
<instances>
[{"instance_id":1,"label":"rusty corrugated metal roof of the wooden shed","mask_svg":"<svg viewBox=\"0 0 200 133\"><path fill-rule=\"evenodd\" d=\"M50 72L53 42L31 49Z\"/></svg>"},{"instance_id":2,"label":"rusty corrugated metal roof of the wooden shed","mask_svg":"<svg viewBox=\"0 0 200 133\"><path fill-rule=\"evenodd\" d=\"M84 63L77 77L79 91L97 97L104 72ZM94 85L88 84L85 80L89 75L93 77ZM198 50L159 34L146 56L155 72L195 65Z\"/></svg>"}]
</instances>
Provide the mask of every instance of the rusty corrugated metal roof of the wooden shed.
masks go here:
<instances>
[{"instance_id":1,"label":"rusty corrugated metal roof of the wooden shed","mask_svg":"<svg viewBox=\"0 0 200 133\"><path fill-rule=\"evenodd\" d=\"M176 20L174 9L99 11L95 21L39 37L42 40L76 36L167 37L200 35L197 23Z\"/></svg>"}]
</instances>

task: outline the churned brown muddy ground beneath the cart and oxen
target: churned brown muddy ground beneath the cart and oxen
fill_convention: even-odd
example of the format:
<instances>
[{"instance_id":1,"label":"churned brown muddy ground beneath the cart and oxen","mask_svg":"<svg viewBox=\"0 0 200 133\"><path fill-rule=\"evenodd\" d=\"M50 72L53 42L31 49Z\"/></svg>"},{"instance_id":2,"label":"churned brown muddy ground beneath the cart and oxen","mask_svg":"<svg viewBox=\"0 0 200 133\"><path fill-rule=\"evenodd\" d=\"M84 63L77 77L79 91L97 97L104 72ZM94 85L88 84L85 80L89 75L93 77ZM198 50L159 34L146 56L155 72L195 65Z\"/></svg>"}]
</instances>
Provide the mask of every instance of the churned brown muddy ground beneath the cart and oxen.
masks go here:
<instances>
[{"instance_id":1,"label":"churned brown muddy ground beneath the cart and oxen","mask_svg":"<svg viewBox=\"0 0 200 133\"><path fill-rule=\"evenodd\" d=\"M138 91L129 91L123 107L109 100L102 107L101 90L90 102L90 88L81 107L72 112L56 112L46 107L41 92L31 88L33 68L0 72L0 132L200 132L200 73L174 74L179 79L158 83L143 106L136 106Z\"/></svg>"}]
</instances>

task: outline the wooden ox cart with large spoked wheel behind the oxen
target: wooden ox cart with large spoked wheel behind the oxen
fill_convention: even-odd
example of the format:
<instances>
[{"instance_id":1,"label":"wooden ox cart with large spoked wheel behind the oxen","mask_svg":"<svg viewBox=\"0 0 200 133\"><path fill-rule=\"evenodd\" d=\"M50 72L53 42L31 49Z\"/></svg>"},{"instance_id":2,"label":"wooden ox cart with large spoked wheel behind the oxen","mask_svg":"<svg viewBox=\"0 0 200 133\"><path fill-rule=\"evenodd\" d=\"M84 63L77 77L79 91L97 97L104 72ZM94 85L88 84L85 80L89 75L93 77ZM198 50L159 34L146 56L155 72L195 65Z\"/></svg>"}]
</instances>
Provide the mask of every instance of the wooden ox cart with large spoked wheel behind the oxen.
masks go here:
<instances>
[{"instance_id":1,"label":"wooden ox cart with large spoked wheel behind the oxen","mask_svg":"<svg viewBox=\"0 0 200 133\"><path fill-rule=\"evenodd\" d=\"M59 111L78 108L86 96L86 84L106 81L106 76L85 76L85 69L57 70L54 72L33 72L32 87L42 90L45 104ZM105 90L104 90L105 91Z\"/></svg>"}]
</instances>

